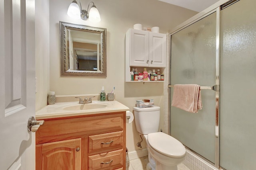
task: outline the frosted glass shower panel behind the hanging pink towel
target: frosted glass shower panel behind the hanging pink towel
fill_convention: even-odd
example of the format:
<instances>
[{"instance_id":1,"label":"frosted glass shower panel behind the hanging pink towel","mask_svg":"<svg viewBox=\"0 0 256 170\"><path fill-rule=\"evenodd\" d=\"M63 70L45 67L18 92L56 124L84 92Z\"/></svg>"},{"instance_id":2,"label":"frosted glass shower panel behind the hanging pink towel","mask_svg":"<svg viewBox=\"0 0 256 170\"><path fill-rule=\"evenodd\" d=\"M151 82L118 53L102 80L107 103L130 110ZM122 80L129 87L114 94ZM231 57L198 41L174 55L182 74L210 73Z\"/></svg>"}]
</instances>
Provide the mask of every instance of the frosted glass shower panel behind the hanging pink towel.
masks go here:
<instances>
[{"instance_id":1,"label":"frosted glass shower panel behind the hanging pink towel","mask_svg":"<svg viewBox=\"0 0 256 170\"><path fill-rule=\"evenodd\" d=\"M213 86L216 80L216 12L171 36L170 83ZM171 101L172 92L171 90ZM189 113L171 107L170 134L215 162L215 91L201 90L203 109Z\"/></svg>"}]
</instances>

